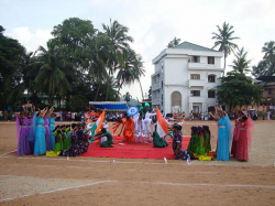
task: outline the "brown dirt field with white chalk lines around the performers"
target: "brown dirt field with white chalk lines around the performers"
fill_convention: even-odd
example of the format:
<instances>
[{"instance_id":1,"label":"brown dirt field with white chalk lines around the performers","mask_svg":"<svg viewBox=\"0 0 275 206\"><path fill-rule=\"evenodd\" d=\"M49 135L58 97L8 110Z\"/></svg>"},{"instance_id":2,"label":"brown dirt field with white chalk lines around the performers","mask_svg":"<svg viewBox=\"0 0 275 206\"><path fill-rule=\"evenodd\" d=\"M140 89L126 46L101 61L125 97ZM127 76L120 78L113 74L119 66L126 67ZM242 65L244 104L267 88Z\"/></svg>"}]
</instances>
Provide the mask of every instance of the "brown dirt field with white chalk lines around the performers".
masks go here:
<instances>
[{"instance_id":1,"label":"brown dirt field with white chalk lines around the performers","mask_svg":"<svg viewBox=\"0 0 275 206\"><path fill-rule=\"evenodd\" d=\"M233 122L232 122L233 123ZM212 121L208 124L217 138ZM249 162L16 156L0 122L0 205L275 205L275 121L255 121ZM216 145L217 140L211 144Z\"/></svg>"}]
</instances>

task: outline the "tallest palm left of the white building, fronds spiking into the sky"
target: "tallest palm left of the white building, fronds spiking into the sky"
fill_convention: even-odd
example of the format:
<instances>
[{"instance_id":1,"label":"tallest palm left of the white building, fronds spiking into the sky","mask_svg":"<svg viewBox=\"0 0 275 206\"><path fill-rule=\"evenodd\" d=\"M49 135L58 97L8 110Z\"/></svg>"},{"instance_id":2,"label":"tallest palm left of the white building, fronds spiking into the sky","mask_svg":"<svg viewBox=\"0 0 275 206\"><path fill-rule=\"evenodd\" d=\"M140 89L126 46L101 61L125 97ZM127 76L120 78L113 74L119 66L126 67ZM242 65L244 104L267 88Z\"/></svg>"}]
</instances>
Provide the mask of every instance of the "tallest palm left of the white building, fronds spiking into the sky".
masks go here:
<instances>
[{"instance_id":1,"label":"tallest palm left of the white building, fronds spiking into the sky","mask_svg":"<svg viewBox=\"0 0 275 206\"><path fill-rule=\"evenodd\" d=\"M109 76L113 75L118 69L119 63L123 61L123 50L129 47L129 42L133 42L133 39L127 33L129 29L121 25L118 21L111 21L110 25L102 24L105 34L110 40L110 55L107 62L108 76L107 76L107 90L109 89ZM108 100L108 93L106 95L106 100Z\"/></svg>"}]
</instances>

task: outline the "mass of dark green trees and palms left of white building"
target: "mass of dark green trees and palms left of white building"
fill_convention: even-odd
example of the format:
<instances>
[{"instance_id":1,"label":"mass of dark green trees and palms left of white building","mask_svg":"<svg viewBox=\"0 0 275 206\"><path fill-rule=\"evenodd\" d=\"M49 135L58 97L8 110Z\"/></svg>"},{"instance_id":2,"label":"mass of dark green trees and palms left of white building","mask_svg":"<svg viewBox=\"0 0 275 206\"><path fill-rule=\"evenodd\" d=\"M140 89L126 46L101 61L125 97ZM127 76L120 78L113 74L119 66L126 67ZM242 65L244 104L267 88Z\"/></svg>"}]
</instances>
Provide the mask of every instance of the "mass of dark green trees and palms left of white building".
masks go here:
<instances>
[{"instance_id":1,"label":"mass of dark green trees and palms left of white building","mask_svg":"<svg viewBox=\"0 0 275 206\"><path fill-rule=\"evenodd\" d=\"M47 47L29 54L3 31L0 26L3 105L20 100L24 90L28 98L47 95L50 104L55 98L70 108L89 100L119 100L122 86L139 82L145 72L141 56L130 46L129 29L118 21L110 20L100 31L89 20L66 19L54 26Z\"/></svg>"}]
</instances>

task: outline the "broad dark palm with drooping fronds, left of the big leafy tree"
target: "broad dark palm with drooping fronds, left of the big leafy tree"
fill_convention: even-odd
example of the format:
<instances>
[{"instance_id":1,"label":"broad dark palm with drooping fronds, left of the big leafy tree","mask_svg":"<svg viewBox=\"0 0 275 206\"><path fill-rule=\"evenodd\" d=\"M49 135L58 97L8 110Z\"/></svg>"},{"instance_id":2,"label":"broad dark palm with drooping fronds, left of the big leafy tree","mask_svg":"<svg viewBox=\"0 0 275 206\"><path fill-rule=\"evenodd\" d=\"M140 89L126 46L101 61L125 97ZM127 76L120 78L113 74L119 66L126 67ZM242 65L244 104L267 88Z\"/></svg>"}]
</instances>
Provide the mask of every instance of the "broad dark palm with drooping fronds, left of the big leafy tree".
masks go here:
<instances>
[{"instance_id":1,"label":"broad dark palm with drooping fronds, left of the big leafy tree","mask_svg":"<svg viewBox=\"0 0 275 206\"><path fill-rule=\"evenodd\" d=\"M48 51L40 46L38 63L42 64L38 75L34 79L35 88L50 96L50 104L54 95L66 95L72 91L67 77L73 76L72 65L55 50L54 44L47 43Z\"/></svg>"}]
</instances>

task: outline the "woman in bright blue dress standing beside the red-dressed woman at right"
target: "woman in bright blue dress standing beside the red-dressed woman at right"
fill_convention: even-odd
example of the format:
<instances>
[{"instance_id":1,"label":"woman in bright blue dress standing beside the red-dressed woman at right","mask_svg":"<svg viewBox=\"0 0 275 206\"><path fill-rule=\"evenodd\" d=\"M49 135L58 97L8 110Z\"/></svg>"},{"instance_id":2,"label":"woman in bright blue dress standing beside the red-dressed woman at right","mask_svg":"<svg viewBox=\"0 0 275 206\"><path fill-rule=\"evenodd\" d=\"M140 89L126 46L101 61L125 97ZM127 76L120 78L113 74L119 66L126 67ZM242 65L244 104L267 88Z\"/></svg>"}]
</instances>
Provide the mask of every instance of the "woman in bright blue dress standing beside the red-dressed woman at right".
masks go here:
<instances>
[{"instance_id":1,"label":"woman in bright blue dress standing beside the red-dressed woman at right","mask_svg":"<svg viewBox=\"0 0 275 206\"><path fill-rule=\"evenodd\" d=\"M232 142L230 120L228 115L221 109L221 107L217 107L217 111L219 111L217 160L229 161L230 144Z\"/></svg>"}]
</instances>

